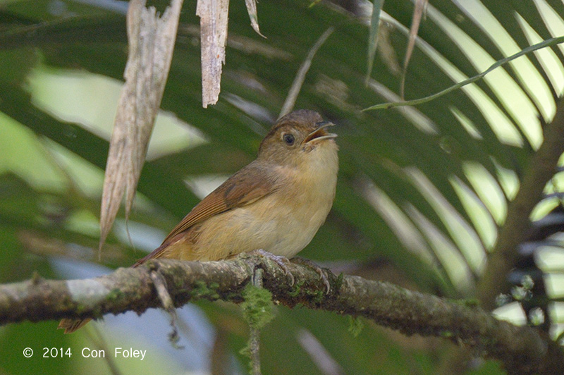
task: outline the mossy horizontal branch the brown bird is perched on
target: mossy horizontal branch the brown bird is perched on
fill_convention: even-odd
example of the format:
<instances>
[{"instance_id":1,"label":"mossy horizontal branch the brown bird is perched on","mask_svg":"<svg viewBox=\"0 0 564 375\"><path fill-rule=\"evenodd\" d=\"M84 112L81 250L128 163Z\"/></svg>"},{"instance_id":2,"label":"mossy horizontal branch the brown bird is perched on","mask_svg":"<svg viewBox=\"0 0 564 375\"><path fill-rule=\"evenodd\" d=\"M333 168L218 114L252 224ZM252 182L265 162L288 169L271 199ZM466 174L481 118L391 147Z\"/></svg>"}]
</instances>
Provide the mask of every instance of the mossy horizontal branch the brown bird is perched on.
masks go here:
<instances>
[{"instance_id":1,"label":"mossy horizontal branch the brown bird is perched on","mask_svg":"<svg viewBox=\"0 0 564 375\"><path fill-rule=\"evenodd\" d=\"M151 273L158 272L176 307L190 300L242 302L241 292L254 270L264 269L264 288L288 307L301 304L364 316L407 335L448 338L480 355L500 359L510 374L556 374L564 367L564 353L544 333L527 326L498 321L478 307L449 302L396 285L358 276L329 273L331 292L319 274L307 266L290 264L295 285L268 259L245 255L223 262L158 260L135 269L117 269L98 278L71 281L39 277L0 285L0 324L61 318L99 318L133 310L160 307Z\"/></svg>"}]
</instances>

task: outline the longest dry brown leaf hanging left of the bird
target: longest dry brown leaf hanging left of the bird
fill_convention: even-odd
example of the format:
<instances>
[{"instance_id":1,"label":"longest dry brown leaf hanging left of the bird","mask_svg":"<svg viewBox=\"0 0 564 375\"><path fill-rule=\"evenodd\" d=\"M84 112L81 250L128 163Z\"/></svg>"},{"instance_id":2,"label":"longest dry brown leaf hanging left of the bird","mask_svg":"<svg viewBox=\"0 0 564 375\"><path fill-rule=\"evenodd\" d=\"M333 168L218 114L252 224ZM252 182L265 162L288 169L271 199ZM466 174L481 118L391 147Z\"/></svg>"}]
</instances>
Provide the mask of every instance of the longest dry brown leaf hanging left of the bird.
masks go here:
<instances>
[{"instance_id":1,"label":"longest dry brown leaf hanging left of the bird","mask_svg":"<svg viewBox=\"0 0 564 375\"><path fill-rule=\"evenodd\" d=\"M129 4L129 56L106 163L100 211L100 249L125 191L126 218L133 205L154 118L171 66L182 2L172 0L161 18L154 8L145 8L145 0L131 0Z\"/></svg>"}]
</instances>

